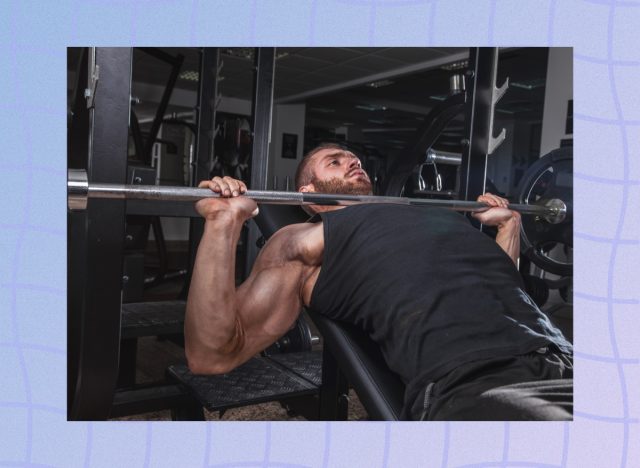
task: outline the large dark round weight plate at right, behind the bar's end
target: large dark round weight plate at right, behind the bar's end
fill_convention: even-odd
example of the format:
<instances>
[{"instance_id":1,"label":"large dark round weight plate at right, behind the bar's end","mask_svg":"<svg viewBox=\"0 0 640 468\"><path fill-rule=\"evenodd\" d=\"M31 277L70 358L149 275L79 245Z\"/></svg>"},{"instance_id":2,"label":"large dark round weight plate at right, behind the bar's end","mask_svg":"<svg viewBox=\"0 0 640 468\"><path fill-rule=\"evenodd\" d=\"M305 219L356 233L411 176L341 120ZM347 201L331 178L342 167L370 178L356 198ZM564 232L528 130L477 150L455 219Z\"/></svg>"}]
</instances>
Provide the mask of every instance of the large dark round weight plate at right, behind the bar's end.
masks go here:
<instances>
[{"instance_id":1,"label":"large dark round weight plate at right, behind the bar's end","mask_svg":"<svg viewBox=\"0 0 640 468\"><path fill-rule=\"evenodd\" d=\"M540 204L560 199L567 217L551 224L538 216L523 216L521 252L543 270L560 276L573 274L573 148L560 148L536 161L524 174L518 201Z\"/></svg>"}]
</instances>

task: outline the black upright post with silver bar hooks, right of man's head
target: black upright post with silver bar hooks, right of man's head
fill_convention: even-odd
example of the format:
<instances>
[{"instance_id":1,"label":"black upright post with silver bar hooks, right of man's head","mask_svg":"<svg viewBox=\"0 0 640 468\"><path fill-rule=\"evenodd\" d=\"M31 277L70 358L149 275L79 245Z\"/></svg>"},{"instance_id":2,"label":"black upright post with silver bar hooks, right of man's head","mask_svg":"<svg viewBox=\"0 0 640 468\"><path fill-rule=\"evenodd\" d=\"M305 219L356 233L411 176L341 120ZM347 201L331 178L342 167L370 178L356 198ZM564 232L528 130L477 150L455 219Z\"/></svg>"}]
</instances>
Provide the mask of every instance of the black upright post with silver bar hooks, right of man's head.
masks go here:
<instances>
[{"instance_id":1,"label":"black upright post with silver bar hooks, right of man's head","mask_svg":"<svg viewBox=\"0 0 640 468\"><path fill-rule=\"evenodd\" d=\"M495 87L497 68L497 48L476 47L470 50L468 106L460 166L459 194L463 200L475 200L484 193L487 156L504 139L504 131L498 138L492 134L494 106L506 90L506 85L499 90Z\"/></svg>"}]
</instances>

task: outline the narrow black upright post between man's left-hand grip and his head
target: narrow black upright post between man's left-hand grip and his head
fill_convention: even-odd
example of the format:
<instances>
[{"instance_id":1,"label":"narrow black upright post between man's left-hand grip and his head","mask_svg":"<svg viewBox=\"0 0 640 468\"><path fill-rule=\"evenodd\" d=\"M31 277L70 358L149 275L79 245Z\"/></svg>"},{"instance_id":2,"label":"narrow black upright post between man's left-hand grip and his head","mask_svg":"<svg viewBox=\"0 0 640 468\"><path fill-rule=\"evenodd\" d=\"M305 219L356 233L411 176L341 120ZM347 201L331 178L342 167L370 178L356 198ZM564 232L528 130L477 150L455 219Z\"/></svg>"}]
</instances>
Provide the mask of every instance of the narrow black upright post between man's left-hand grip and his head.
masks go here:
<instances>
[{"instance_id":1,"label":"narrow black upright post between man's left-hand grip and his head","mask_svg":"<svg viewBox=\"0 0 640 468\"><path fill-rule=\"evenodd\" d=\"M276 50L259 47L255 56L255 81L252 103L253 146L251 149L252 190L267 190L269 165L269 143L271 141L271 118L273 112L273 85ZM258 226L251 221L247 234L245 272L248 274L258 256L256 242L260 237Z\"/></svg>"}]
</instances>

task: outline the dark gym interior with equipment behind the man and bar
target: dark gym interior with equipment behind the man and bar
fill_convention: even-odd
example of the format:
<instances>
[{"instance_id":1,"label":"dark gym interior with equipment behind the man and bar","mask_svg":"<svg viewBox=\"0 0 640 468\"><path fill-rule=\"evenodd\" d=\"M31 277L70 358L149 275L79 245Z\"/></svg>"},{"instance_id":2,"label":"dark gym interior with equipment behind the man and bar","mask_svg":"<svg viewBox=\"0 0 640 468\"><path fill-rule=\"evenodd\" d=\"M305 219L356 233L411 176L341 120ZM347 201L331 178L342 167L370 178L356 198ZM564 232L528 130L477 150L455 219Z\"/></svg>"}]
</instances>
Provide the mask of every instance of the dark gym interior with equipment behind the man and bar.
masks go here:
<instances>
[{"instance_id":1,"label":"dark gym interior with equipment behind the man and bar","mask_svg":"<svg viewBox=\"0 0 640 468\"><path fill-rule=\"evenodd\" d=\"M71 47L67 59L68 168L89 187L231 176L294 192L302 156L335 142L377 196L562 198L558 224L523 215L519 273L573 340L570 48ZM265 223L243 228L237 284L273 233ZM403 385L376 367L380 351L306 310L231 373L191 373L184 313L203 226L193 202L69 210L69 420L398 418Z\"/></svg>"}]
</instances>

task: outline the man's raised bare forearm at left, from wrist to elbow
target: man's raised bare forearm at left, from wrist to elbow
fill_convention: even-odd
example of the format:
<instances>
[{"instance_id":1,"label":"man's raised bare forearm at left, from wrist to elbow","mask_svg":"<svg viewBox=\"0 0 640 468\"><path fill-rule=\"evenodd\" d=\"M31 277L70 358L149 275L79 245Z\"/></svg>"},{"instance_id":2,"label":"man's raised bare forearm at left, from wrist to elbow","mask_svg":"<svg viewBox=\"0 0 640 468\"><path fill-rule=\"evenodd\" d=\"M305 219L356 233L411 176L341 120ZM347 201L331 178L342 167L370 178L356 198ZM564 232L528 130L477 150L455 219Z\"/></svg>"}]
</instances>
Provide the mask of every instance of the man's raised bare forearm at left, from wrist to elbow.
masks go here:
<instances>
[{"instance_id":1,"label":"man's raised bare forearm at left, from wrist to elbow","mask_svg":"<svg viewBox=\"0 0 640 468\"><path fill-rule=\"evenodd\" d=\"M235 286L241 230L242 222L231 216L205 223L185 316L185 349L190 366L197 368L203 361L224 359L242 344Z\"/></svg>"}]
</instances>

